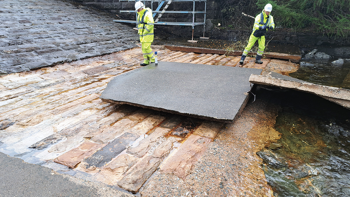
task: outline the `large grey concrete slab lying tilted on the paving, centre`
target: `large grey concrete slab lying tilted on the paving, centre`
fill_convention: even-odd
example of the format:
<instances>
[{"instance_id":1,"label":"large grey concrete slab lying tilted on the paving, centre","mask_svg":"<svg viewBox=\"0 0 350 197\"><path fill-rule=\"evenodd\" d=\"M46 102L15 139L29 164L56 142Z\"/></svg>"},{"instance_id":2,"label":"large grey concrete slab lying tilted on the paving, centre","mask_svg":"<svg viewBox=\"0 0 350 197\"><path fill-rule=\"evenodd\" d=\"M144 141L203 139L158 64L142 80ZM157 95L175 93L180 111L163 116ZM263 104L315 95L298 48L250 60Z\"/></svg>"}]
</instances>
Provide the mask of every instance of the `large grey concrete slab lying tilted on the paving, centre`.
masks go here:
<instances>
[{"instance_id":1,"label":"large grey concrete slab lying tilted on the paving, centre","mask_svg":"<svg viewBox=\"0 0 350 197\"><path fill-rule=\"evenodd\" d=\"M106 102L230 122L245 107L251 74L261 69L159 62L116 76L100 98Z\"/></svg>"}]
</instances>

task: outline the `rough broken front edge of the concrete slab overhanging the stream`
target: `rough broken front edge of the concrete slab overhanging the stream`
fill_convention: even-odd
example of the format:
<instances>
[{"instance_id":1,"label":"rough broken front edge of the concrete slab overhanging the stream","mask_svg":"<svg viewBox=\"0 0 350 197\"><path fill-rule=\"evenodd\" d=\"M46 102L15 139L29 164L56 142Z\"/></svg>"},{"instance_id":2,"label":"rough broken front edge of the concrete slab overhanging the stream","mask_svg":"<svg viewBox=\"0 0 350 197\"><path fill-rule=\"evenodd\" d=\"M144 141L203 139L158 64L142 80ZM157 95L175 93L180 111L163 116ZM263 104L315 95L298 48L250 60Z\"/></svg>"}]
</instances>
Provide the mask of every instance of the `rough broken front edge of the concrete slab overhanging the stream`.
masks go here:
<instances>
[{"instance_id":1,"label":"rough broken front edge of the concrete slab overhanging the stream","mask_svg":"<svg viewBox=\"0 0 350 197\"><path fill-rule=\"evenodd\" d=\"M293 79L292 77L290 77ZM287 79L279 79L271 76L255 75L249 77L249 82L265 86L288 88L297 91L312 93L318 96L326 96L335 99L350 100L350 90L318 85L314 83L297 82Z\"/></svg>"}]
</instances>

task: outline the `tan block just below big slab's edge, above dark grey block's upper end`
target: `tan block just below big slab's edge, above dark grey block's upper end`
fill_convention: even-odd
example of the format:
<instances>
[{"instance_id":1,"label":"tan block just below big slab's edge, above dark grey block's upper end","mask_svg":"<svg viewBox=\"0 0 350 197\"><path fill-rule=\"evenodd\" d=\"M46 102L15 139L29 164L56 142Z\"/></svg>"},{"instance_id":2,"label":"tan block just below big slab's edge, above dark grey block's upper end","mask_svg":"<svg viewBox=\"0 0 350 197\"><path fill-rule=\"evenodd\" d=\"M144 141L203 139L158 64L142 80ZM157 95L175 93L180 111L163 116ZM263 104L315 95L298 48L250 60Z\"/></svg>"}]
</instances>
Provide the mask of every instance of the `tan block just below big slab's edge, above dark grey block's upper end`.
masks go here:
<instances>
[{"instance_id":1,"label":"tan block just below big slab's edge, above dark grey block's upper end","mask_svg":"<svg viewBox=\"0 0 350 197\"><path fill-rule=\"evenodd\" d=\"M164 119L165 117L163 116L151 115L148 118L146 118L144 121L140 122L139 124L131 128L129 132L138 134L138 135L146 134L148 131L153 129L155 125L161 123Z\"/></svg>"}]
</instances>

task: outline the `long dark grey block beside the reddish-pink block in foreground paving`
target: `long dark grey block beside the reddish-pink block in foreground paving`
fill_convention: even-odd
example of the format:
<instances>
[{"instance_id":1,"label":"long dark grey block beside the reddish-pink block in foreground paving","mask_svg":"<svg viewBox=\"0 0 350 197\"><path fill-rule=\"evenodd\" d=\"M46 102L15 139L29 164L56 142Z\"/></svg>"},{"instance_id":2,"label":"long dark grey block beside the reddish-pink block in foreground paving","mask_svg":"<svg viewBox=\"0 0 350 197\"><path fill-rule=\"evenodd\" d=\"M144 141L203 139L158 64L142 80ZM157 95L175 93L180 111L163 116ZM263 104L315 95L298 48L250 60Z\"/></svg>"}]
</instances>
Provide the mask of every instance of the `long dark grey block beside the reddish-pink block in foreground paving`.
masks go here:
<instances>
[{"instance_id":1,"label":"long dark grey block beside the reddish-pink block in foreground paving","mask_svg":"<svg viewBox=\"0 0 350 197\"><path fill-rule=\"evenodd\" d=\"M116 157L121 151L125 150L125 147L135 141L139 136L132 133L125 133L120 137L116 138L105 147L95 152L93 155L88 157L84 163L85 168L90 167L101 168L106 163L110 162L112 158Z\"/></svg>"}]
</instances>

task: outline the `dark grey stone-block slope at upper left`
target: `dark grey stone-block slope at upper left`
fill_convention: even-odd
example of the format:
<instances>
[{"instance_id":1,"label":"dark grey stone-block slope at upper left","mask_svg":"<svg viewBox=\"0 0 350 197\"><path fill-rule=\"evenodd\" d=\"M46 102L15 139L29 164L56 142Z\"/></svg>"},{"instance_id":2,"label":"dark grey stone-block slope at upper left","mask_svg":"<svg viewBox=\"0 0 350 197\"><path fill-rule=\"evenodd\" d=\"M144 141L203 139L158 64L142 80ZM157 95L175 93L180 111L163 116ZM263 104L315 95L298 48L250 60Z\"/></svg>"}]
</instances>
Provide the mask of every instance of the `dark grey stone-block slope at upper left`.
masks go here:
<instances>
[{"instance_id":1,"label":"dark grey stone-block slope at upper left","mask_svg":"<svg viewBox=\"0 0 350 197\"><path fill-rule=\"evenodd\" d=\"M2 0L0 74L136 47L137 32L113 19L73 1Z\"/></svg>"}]
</instances>

